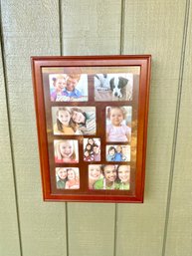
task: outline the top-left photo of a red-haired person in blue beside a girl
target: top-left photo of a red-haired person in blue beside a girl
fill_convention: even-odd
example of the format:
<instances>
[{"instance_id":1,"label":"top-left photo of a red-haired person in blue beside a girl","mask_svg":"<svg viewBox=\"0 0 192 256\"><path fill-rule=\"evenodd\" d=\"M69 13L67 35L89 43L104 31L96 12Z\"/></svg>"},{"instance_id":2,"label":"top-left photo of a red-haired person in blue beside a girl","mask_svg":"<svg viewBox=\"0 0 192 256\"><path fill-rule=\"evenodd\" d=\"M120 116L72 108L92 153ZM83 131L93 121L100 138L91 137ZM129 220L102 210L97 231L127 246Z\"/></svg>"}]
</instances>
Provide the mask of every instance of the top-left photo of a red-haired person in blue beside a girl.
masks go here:
<instances>
[{"instance_id":1,"label":"top-left photo of a red-haired person in blue beside a girl","mask_svg":"<svg viewBox=\"0 0 192 256\"><path fill-rule=\"evenodd\" d=\"M51 102L88 102L87 74L49 75Z\"/></svg>"}]
</instances>

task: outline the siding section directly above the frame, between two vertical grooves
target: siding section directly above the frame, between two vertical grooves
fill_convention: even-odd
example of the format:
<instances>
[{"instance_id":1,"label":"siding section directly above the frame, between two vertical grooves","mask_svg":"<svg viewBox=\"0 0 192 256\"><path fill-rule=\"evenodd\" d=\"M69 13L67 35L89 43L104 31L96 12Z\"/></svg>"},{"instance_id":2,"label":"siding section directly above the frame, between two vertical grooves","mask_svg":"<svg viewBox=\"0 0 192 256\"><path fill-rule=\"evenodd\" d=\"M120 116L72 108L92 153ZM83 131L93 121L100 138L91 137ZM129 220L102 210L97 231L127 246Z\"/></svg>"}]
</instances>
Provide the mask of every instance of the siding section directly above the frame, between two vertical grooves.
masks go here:
<instances>
[{"instance_id":1,"label":"siding section directly above the frame, between two vertical grooves","mask_svg":"<svg viewBox=\"0 0 192 256\"><path fill-rule=\"evenodd\" d=\"M62 1L63 55L119 54L120 1Z\"/></svg>"}]
</instances>

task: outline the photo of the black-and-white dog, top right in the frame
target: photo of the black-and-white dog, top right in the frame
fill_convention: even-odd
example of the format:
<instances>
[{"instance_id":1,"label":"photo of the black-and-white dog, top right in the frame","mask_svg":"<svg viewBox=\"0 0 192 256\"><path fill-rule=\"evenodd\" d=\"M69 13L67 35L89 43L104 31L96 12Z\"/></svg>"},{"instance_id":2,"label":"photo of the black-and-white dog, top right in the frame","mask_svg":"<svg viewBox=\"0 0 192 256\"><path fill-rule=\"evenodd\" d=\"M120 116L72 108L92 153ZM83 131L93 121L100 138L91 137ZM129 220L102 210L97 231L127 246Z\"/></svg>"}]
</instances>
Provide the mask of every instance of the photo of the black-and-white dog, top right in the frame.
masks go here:
<instances>
[{"instance_id":1,"label":"photo of the black-and-white dog, top right in the frame","mask_svg":"<svg viewBox=\"0 0 192 256\"><path fill-rule=\"evenodd\" d=\"M132 98L132 86L130 86L131 83L126 76L127 74L96 74L95 89L98 92L110 92L111 101L130 101Z\"/></svg>"}]
</instances>

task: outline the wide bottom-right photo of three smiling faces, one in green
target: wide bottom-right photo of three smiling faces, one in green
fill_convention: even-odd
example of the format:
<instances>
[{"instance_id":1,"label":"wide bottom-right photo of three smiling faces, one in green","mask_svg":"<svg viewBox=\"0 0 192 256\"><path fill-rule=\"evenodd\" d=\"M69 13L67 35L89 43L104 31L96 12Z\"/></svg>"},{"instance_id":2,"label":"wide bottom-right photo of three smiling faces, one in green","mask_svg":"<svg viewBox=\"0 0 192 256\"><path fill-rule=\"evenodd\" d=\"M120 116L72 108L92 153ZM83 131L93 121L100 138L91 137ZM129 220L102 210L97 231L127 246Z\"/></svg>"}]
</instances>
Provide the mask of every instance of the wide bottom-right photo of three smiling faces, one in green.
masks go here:
<instances>
[{"instance_id":1,"label":"wide bottom-right photo of three smiling faces, one in green","mask_svg":"<svg viewBox=\"0 0 192 256\"><path fill-rule=\"evenodd\" d=\"M97 190L129 190L130 165L89 165L89 188Z\"/></svg>"}]
</instances>

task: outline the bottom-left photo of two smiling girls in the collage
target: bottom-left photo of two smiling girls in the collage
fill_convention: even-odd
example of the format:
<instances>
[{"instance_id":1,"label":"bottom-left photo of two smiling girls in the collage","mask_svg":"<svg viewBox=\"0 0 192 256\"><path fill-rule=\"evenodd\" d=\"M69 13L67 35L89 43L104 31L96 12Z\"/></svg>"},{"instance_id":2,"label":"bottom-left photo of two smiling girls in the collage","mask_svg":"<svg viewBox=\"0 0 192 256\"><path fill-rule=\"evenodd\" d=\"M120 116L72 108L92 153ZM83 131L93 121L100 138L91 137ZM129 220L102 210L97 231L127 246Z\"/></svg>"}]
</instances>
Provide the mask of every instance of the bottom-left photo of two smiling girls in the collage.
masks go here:
<instances>
[{"instance_id":1,"label":"bottom-left photo of two smiling girls in the collage","mask_svg":"<svg viewBox=\"0 0 192 256\"><path fill-rule=\"evenodd\" d=\"M77 167L57 167L56 186L58 189L79 189L80 170Z\"/></svg>"}]
</instances>

